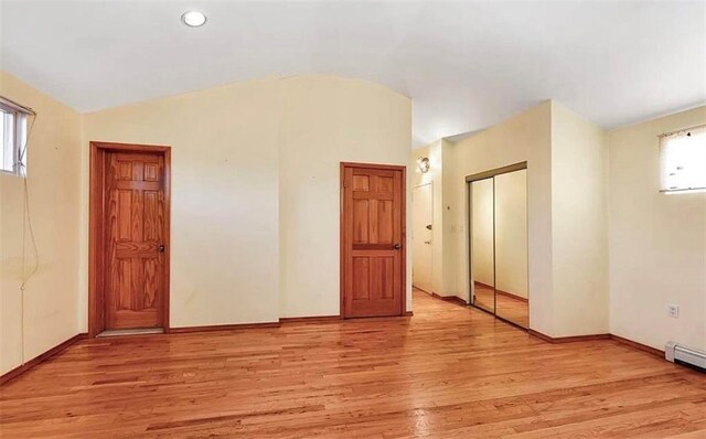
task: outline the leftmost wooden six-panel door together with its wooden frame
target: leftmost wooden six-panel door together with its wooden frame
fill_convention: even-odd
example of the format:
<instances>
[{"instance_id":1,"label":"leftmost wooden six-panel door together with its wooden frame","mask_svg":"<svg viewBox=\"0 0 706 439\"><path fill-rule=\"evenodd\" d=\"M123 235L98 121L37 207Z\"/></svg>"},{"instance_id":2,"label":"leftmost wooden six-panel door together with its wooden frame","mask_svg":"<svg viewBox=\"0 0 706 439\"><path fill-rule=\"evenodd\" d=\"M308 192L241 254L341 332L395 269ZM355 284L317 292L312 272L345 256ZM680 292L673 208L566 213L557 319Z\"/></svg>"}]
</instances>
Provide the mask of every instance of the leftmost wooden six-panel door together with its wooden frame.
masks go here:
<instances>
[{"instance_id":1,"label":"leftmost wooden six-panel door together with its wooden frame","mask_svg":"<svg viewBox=\"0 0 706 439\"><path fill-rule=\"evenodd\" d=\"M171 148L90 142L88 334L169 331Z\"/></svg>"}]
</instances>

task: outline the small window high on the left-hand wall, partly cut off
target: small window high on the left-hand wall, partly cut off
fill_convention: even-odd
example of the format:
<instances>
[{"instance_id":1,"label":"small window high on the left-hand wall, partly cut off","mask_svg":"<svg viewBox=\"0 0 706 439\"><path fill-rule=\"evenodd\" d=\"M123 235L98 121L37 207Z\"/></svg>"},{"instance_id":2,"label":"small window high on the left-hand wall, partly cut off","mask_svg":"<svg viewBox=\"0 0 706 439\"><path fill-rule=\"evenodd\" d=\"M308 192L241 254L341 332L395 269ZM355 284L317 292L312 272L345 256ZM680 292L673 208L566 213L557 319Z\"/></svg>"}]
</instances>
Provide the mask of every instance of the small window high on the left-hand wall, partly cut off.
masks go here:
<instances>
[{"instance_id":1,"label":"small window high on the left-hand wall, partly cut off","mask_svg":"<svg viewBox=\"0 0 706 439\"><path fill-rule=\"evenodd\" d=\"M0 171L17 175L26 173L26 122L30 115L24 107L0 98Z\"/></svg>"}]
</instances>

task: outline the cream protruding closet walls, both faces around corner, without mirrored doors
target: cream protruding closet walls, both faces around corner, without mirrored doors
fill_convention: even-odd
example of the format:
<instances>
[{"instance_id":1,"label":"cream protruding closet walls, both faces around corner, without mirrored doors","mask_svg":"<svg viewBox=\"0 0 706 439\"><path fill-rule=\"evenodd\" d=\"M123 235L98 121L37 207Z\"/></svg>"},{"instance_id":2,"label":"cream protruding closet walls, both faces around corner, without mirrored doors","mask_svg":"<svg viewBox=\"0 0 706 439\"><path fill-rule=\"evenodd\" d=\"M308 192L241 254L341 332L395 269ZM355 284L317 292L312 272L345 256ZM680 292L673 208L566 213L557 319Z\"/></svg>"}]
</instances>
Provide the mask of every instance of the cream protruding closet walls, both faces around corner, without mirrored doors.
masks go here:
<instances>
[{"instance_id":1,"label":"cream protruding closet walls, both faces around corner, without mirrored doors","mask_svg":"<svg viewBox=\"0 0 706 439\"><path fill-rule=\"evenodd\" d=\"M527 162L530 326L556 338L608 332L603 130L545 101L452 151L451 208L459 231L468 208L464 176ZM468 233L454 239L457 286L467 298Z\"/></svg>"}]
</instances>

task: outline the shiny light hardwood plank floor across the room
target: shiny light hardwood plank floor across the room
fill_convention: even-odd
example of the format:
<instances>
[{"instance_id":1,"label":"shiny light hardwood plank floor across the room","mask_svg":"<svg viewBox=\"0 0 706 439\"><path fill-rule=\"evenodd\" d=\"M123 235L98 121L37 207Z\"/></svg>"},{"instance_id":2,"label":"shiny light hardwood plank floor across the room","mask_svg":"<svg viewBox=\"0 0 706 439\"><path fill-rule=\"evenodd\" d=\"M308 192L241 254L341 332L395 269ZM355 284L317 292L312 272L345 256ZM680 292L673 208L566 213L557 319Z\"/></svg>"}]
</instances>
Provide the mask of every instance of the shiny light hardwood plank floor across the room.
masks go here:
<instances>
[{"instance_id":1,"label":"shiny light hardwood plank floor across the room","mask_svg":"<svg viewBox=\"0 0 706 439\"><path fill-rule=\"evenodd\" d=\"M704 374L422 292L410 319L86 340L0 392L3 439L706 437Z\"/></svg>"}]
</instances>

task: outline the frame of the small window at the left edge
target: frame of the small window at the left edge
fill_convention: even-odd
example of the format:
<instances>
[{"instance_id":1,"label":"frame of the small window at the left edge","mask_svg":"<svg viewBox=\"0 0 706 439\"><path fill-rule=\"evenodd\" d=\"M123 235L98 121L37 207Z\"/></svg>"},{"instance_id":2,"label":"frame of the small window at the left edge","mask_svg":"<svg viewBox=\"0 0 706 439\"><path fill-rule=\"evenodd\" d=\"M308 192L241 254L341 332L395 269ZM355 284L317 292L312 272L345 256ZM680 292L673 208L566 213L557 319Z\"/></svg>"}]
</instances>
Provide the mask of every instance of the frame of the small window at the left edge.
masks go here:
<instances>
[{"instance_id":1,"label":"frame of the small window at the left edge","mask_svg":"<svg viewBox=\"0 0 706 439\"><path fill-rule=\"evenodd\" d=\"M2 151L6 154L8 142L10 143L12 157L12 169L0 168L0 173L8 175L25 176L26 175L26 142L29 136L29 118L34 116L34 111L23 107L4 97L0 97L0 110L3 114L12 115L12 133L8 138L8 133L3 130ZM2 116L4 118L4 115ZM4 125L4 120L2 120Z\"/></svg>"}]
</instances>

